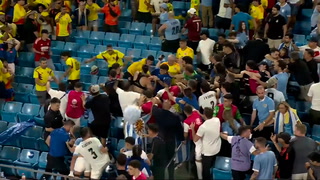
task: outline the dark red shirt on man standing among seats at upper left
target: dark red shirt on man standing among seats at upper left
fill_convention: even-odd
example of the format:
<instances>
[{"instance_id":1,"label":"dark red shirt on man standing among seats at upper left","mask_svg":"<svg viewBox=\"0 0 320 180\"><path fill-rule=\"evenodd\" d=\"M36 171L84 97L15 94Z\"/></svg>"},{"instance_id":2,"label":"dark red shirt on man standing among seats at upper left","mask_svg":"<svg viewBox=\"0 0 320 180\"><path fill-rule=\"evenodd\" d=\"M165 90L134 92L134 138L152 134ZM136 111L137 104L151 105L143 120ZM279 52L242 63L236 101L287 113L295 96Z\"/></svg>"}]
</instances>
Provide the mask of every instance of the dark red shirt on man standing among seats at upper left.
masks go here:
<instances>
[{"instance_id":1,"label":"dark red shirt on man standing among seats at upper left","mask_svg":"<svg viewBox=\"0 0 320 180\"><path fill-rule=\"evenodd\" d=\"M45 57L47 59L50 59L50 46L51 46L51 40L48 38L45 41L42 40L42 38L36 39L36 41L33 44L33 48L39 52L43 52L44 55L40 53L36 53L34 56L35 61L39 61L40 58Z\"/></svg>"}]
</instances>

